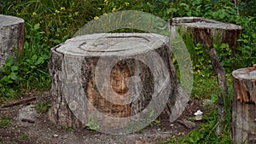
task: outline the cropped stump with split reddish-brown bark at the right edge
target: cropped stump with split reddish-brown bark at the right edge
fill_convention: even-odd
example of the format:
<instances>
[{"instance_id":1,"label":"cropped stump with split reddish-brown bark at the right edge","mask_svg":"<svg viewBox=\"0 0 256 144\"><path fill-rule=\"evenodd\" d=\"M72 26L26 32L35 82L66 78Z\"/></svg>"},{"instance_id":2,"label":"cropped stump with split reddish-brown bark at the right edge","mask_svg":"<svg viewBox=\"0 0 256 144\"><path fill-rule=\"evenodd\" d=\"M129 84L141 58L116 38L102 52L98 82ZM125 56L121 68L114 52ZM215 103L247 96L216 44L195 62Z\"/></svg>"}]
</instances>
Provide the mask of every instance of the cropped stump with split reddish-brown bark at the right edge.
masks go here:
<instances>
[{"instance_id":1,"label":"cropped stump with split reddish-brown bark at the right edge","mask_svg":"<svg viewBox=\"0 0 256 144\"><path fill-rule=\"evenodd\" d=\"M231 135L236 143L256 142L256 65L232 72Z\"/></svg>"}]
</instances>

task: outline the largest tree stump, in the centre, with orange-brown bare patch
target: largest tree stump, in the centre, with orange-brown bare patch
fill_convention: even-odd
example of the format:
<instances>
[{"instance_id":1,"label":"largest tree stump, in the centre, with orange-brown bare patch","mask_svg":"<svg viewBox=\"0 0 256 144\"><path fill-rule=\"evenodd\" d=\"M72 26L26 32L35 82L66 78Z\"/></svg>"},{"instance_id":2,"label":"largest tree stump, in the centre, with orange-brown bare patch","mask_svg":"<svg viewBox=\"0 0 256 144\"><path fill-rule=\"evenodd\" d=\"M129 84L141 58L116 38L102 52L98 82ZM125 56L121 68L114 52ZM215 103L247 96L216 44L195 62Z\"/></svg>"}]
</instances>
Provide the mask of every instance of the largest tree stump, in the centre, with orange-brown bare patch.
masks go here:
<instances>
[{"instance_id":1,"label":"largest tree stump, in the centre, with orange-brown bare patch","mask_svg":"<svg viewBox=\"0 0 256 144\"><path fill-rule=\"evenodd\" d=\"M49 119L73 128L143 127L160 113L168 117L177 95L185 95L178 90L169 38L157 34L73 37L51 49L49 71Z\"/></svg>"}]
</instances>

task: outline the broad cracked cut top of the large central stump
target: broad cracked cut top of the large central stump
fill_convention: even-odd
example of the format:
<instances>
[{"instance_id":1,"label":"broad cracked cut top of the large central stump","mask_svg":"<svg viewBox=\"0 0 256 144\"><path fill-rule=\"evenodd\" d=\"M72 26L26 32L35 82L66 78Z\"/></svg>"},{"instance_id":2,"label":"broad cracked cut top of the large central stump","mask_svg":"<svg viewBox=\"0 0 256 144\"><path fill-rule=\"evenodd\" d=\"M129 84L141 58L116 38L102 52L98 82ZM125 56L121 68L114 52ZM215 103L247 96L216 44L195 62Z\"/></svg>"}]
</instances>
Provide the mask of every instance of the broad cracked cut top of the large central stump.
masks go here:
<instances>
[{"instance_id":1,"label":"broad cracked cut top of the large central stump","mask_svg":"<svg viewBox=\"0 0 256 144\"><path fill-rule=\"evenodd\" d=\"M78 56L135 55L168 42L168 37L153 33L97 33L73 37L55 50Z\"/></svg>"}]
</instances>

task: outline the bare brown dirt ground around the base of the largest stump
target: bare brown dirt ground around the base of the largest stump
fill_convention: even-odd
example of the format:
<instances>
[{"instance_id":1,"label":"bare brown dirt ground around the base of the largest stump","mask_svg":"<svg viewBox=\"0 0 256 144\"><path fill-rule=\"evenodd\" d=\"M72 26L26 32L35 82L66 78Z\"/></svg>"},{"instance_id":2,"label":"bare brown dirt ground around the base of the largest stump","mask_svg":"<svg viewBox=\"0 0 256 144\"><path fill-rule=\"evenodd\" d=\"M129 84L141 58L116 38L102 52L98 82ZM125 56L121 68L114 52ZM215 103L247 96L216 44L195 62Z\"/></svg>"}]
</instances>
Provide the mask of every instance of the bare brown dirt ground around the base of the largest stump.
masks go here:
<instances>
[{"instance_id":1,"label":"bare brown dirt ground around the base of the largest stump","mask_svg":"<svg viewBox=\"0 0 256 144\"><path fill-rule=\"evenodd\" d=\"M168 119L160 119L159 124L148 125L143 130L128 135L107 135L93 130L73 130L65 129L59 125L50 123L47 113L34 114L33 121L20 120L20 109L26 107L34 110L38 102L50 101L49 92L41 94L22 95L23 99L36 96L36 100L20 104L18 106L0 108L0 116L11 118L10 124L5 128L0 127L0 143L49 143L49 144L149 144L158 141L167 141L173 137L186 135L190 130L198 127L202 121L195 121L194 112L201 110L204 112L201 101L189 101L183 115L179 119L193 120L195 127L188 128L188 125L179 121L170 123ZM21 98L20 98L21 99ZM19 100L16 100L19 101ZM14 101L11 101L14 102ZM3 104L1 105L3 106ZM1 121L1 119L0 119Z\"/></svg>"}]
</instances>

